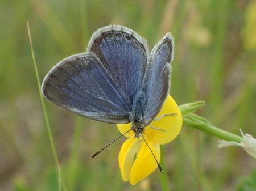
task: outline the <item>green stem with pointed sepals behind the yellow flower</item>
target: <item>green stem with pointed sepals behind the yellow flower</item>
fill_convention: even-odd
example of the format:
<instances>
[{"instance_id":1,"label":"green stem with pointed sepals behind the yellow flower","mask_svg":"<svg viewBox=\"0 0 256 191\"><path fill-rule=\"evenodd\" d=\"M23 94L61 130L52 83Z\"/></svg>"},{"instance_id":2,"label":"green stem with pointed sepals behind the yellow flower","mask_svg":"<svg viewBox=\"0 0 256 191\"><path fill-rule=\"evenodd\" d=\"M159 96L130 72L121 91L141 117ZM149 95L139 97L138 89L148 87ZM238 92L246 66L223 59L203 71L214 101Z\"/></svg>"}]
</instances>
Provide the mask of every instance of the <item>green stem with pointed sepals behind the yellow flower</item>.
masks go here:
<instances>
[{"instance_id":1,"label":"green stem with pointed sepals behind the yellow flower","mask_svg":"<svg viewBox=\"0 0 256 191\"><path fill-rule=\"evenodd\" d=\"M180 111L183 114L183 123L191 126L192 128L203 131L204 133L213 135L214 137L224 139L225 141L234 141L238 143L242 141L242 137L219 129L216 126L211 125L205 118L192 113L202 106L204 106L204 101L196 101L194 103L180 105Z\"/></svg>"}]
</instances>

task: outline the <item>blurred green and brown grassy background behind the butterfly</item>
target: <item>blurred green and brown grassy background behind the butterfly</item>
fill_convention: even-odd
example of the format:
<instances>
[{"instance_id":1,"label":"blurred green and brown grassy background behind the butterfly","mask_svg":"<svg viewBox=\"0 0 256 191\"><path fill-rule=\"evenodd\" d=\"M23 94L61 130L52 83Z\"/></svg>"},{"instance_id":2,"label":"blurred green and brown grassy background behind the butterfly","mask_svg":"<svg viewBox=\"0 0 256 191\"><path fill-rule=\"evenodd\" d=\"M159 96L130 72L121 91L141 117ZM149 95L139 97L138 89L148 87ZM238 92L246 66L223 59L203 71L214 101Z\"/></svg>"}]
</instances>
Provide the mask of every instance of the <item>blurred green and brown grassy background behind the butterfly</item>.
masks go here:
<instances>
[{"instance_id":1,"label":"blurred green and brown grassy background behind the butterfly","mask_svg":"<svg viewBox=\"0 0 256 191\"><path fill-rule=\"evenodd\" d=\"M84 52L102 26L132 28L150 49L170 31L170 94L177 104L205 100L197 114L256 136L256 1L1 0L0 20L0 190L57 190L27 21L40 82L61 59ZM135 186L122 181L118 153L125 138L90 158L118 137L115 125L46 107L66 190L162 190L159 171ZM220 150L217 141L183 126L162 147L170 190L256 190L255 159L239 147Z\"/></svg>"}]
</instances>

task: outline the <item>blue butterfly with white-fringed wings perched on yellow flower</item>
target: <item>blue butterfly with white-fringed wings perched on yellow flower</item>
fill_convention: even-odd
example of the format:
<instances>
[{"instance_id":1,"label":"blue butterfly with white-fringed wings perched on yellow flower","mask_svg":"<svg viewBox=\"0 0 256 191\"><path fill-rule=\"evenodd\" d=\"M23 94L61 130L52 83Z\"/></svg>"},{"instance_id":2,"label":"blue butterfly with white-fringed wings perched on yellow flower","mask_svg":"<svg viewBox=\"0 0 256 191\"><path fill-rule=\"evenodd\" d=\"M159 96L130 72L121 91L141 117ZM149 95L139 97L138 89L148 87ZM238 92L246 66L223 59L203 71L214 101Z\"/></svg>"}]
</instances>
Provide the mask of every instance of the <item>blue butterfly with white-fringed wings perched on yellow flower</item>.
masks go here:
<instances>
[{"instance_id":1,"label":"blue butterfly with white-fringed wings perched on yellow flower","mask_svg":"<svg viewBox=\"0 0 256 191\"><path fill-rule=\"evenodd\" d=\"M151 53L146 39L123 26L93 33L87 51L64 58L42 83L47 100L80 116L113 124L131 122L139 137L170 90L171 33Z\"/></svg>"}]
</instances>

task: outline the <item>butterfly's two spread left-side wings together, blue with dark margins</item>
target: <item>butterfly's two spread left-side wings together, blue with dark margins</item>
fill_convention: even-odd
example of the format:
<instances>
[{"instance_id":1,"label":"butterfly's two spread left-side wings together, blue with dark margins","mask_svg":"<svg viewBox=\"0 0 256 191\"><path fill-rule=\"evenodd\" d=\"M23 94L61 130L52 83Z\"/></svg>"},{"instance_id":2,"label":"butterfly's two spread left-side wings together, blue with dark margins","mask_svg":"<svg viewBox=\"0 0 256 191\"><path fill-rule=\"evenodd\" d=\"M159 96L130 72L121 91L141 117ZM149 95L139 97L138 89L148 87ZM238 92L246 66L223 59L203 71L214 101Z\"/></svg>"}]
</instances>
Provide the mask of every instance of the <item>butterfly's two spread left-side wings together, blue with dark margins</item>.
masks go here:
<instances>
[{"instance_id":1,"label":"butterfly's two spread left-side wings together, blue with dark margins","mask_svg":"<svg viewBox=\"0 0 256 191\"><path fill-rule=\"evenodd\" d=\"M147 63L145 41L131 29L98 29L88 52L60 61L42 84L52 103L94 120L124 124L141 87Z\"/></svg>"}]
</instances>

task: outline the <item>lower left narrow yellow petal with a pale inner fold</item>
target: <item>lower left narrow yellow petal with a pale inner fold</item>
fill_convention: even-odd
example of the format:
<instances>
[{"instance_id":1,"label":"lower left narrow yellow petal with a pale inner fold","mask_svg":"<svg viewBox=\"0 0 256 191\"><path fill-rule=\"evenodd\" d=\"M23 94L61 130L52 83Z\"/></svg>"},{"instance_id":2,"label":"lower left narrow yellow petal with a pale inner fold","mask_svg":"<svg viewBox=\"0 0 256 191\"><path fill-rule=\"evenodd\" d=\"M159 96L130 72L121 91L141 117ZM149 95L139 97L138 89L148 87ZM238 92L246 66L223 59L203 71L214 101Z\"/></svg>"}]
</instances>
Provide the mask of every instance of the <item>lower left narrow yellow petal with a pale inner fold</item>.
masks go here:
<instances>
[{"instance_id":1,"label":"lower left narrow yellow petal with a pale inner fold","mask_svg":"<svg viewBox=\"0 0 256 191\"><path fill-rule=\"evenodd\" d=\"M133 159L135 152L138 147L140 147L140 142L137 138L129 138L127 139L119 152L119 167L121 170L123 181L127 182L130 179L130 171L133 166Z\"/></svg>"}]
</instances>

